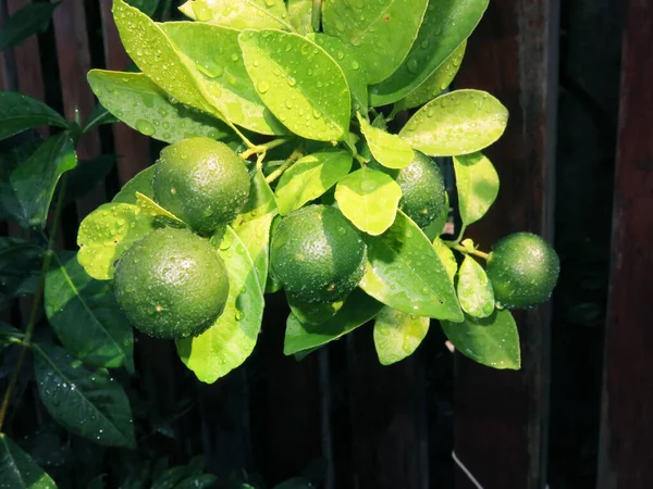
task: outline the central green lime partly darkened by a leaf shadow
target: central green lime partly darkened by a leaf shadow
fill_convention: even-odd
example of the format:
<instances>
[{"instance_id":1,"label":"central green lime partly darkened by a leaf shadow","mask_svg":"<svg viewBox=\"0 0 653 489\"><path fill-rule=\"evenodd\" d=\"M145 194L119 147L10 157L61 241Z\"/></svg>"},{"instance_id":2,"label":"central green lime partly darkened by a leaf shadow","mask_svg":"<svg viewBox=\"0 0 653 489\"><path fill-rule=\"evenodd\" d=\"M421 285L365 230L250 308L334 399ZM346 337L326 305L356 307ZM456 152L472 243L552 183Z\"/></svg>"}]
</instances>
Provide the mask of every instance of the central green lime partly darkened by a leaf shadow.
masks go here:
<instances>
[{"instance_id":1,"label":"central green lime partly darkened by a leaf shadow","mask_svg":"<svg viewBox=\"0 0 653 489\"><path fill-rule=\"evenodd\" d=\"M362 278L366 246L337 209L308 205L281 221L270 262L288 296L308 303L337 302Z\"/></svg>"}]
</instances>

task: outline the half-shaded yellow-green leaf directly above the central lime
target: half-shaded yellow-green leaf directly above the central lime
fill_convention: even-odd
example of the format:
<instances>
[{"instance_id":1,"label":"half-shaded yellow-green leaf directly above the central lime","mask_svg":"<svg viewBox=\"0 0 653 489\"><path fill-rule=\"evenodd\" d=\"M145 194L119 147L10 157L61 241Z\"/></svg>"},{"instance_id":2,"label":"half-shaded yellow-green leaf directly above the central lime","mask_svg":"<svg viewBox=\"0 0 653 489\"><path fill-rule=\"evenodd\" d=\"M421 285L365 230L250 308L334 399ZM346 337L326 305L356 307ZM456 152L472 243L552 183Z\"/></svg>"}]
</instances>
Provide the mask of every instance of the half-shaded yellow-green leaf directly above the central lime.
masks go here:
<instances>
[{"instance_id":1,"label":"half-shaded yellow-green leaf directly above the central lime","mask_svg":"<svg viewBox=\"0 0 653 489\"><path fill-rule=\"evenodd\" d=\"M348 151L324 150L297 160L279 180L275 190L281 215L317 199L347 176L353 158Z\"/></svg>"}]
</instances>

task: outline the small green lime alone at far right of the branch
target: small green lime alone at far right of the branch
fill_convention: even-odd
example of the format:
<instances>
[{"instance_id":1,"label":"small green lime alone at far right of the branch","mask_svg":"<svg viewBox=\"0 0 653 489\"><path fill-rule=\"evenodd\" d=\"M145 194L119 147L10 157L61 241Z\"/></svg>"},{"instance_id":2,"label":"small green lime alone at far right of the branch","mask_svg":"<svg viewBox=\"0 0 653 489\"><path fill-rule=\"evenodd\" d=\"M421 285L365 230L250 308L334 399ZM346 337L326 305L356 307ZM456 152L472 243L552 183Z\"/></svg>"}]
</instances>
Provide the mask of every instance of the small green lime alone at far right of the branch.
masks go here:
<instances>
[{"instance_id":1,"label":"small green lime alone at far right of the branch","mask_svg":"<svg viewBox=\"0 0 653 489\"><path fill-rule=\"evenodd\" d=\"M526 309L549 300L560 261L553 247L538 235L517 233L494 246L485 272L502 308Z\"/></svg>"}]
</instances>

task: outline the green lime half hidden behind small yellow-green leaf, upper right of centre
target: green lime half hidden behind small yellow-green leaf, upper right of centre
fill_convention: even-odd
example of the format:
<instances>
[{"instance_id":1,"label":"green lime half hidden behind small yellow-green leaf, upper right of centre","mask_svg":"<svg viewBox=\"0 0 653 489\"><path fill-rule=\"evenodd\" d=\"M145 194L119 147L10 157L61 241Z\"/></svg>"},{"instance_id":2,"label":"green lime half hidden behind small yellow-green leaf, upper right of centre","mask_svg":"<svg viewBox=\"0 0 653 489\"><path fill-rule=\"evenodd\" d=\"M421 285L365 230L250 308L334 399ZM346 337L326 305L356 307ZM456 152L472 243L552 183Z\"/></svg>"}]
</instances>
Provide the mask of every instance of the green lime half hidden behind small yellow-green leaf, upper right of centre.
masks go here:
<instances>
[{"instance_id":1,"label":"green lime half hidden behind small yellow-green leaf, upper right of centre","mask_svg":"<svg viewBox=\"0 0 653 489\"><path fill-rule=\"evenodd\" d=\"M399 209L420 228L445 212L444 177L438 164L426 154L415 151L412 163L399 170L396 181L403 193Z\"/></svg>"}]
</instances>

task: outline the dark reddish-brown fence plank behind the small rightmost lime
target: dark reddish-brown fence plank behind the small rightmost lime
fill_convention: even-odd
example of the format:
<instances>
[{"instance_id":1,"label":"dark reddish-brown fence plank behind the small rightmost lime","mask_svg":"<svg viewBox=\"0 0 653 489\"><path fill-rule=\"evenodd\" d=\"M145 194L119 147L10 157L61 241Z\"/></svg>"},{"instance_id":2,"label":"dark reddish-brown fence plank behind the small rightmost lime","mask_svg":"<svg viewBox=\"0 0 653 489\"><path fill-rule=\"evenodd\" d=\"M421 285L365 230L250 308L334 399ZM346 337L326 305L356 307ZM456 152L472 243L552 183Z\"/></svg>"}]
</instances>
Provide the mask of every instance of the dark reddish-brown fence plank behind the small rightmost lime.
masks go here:
<instances>
[{"instance_id":1,"label":"dark reddish-brown fence plank behind the small rightmost lime","mask_svg":"<svg viewBox=\"0 0 653 489\"><path fill-rule=\"evenodd\" d=\"M490 91L510 112L506 134L485 151L501 176L500 197L469 230L483 249L520 230L552 238L558 14L557 0L490 2L456 80ZM485 489L546 482L549 308L516 318L520 372L456 361L456 454ZM463 471L456 487L476 488Z\"/></svg>"}]
</instances>

